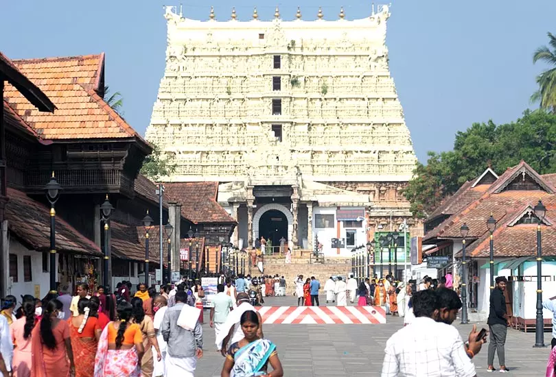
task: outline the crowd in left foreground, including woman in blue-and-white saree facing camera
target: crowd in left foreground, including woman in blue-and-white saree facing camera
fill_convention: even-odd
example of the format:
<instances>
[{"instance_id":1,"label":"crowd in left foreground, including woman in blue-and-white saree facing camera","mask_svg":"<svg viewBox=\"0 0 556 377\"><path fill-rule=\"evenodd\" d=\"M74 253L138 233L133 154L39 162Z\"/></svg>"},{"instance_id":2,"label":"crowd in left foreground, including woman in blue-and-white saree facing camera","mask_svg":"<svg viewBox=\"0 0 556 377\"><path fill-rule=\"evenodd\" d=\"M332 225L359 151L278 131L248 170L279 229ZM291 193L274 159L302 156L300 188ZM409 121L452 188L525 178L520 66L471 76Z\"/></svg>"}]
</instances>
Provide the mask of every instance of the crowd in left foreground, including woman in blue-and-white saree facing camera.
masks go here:
<instances>
[{"instance_id":1,"label":"crowd in left foreground, including woman in blue-and-white saree facing camera","mask_svg":"<svg viewBox=\"0 0 556 377\"><path fill-rule=\"evenodd\" d=\"M218 284L224 300L218 294L211 300L210 323L222 330L217 335L235 329L233 339L220 339L217 347L225 356L222 376L282 376L275 345L260 336L262 319L248 304L248 295L231 280L225 283ZM15 377L194 376L203 352L204 296L198 280L185 278L159 290L143 283L134 290L124 281L113 293L105 287L78 284L76 295L67 287L42 300L8 295L1 301L0 373ZM236 313L240 317L228 326L230 311L244 303L248 306L242 306ZM222 314L224 306L228 312ZM266 373L268 365L273 367L270 374Z\"/></svg>"}]
</instances>

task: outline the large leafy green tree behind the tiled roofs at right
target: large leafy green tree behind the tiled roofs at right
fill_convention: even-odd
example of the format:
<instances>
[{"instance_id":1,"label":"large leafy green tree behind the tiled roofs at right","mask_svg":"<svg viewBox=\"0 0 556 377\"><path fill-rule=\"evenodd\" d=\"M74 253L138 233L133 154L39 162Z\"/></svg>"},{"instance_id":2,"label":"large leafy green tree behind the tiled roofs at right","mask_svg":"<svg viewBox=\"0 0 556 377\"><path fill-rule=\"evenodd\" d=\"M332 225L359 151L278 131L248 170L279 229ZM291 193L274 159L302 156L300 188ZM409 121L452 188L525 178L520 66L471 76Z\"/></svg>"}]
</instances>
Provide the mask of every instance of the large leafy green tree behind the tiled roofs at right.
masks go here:
<instances>
[{"instance_id":1,"label":"large leafy green tree behind the tiled roofs at right","mask_svg":"<svg viewBox=\"0 0 556 377\"><path fill-rule=\"evenodd\" d=\"M556 172L556 114L526 110L515 122L474 123L458 132L454 149L429 152L427 165L418 164L404 195L414 216L426 217L446 196L487 167L503 173L525 160L540 174Z\"/></svg>"}]
</instances>

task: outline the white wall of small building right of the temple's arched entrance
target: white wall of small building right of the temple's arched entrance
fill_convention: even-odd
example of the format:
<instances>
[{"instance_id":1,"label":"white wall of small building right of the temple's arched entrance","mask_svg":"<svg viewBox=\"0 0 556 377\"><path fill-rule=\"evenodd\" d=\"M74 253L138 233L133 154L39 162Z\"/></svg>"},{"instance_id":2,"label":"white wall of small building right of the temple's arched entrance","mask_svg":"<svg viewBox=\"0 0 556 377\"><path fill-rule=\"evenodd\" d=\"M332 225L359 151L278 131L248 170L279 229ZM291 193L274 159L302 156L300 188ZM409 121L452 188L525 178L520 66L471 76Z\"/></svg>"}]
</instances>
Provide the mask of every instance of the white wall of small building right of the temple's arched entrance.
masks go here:
<instances>
[{"instance_id":1,"label":"white wall of small building right of the temple's arched entrance","mask_svg":"<svg viewBox=\"0 0 556 377\"><path fill-rule=\"evenodd\" d=\"M364 209L364 207L354 207L354 209ZM334 228L316 228L316 216L315 215L334 215ZM367 228L367 221L363 220L362 228L356 228L356 246L367 244L367 234L365 234L365 229ZM323 244L323 253L325 256L351 256L350 250L354 246L347 246L340 249L340 254L337 254L336 248L332 248L332 239L338 237L338 219L336 218L336 207L314 207L313 208L313 219L312 219L312 229L313 229L313 239L314 236L318 236L318 241ZM348 228L355 229L355 228ZM346 238L346 229L344 228L343 221L340 221L340 239Z\"/></svg>"}]
</instances>

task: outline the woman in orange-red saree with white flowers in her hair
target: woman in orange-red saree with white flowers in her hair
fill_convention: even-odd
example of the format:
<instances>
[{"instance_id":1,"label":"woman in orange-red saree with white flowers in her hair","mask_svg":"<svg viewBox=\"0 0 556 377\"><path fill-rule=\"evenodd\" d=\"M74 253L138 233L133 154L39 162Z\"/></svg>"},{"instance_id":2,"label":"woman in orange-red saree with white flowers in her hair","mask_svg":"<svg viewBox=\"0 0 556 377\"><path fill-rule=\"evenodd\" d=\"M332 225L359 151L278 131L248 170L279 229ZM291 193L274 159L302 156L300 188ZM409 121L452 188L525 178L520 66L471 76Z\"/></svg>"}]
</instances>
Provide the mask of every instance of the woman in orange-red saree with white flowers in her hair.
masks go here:
<instances>
[{"instance_id":1,"label":"woman in orange-red saree with white flowers in her hair","mask_svg":"<svg viewBox=\"0 0 556 377\"><path fill-rule=\"evenodd\" d=\"M97 344L102 329L98 325L98 319L89 315L90 312L89 300L81 298L78 301L79 315L67 320L71 348L76 356L76 377L93 377L95 368Z\"/></svg>"}]
</instances>

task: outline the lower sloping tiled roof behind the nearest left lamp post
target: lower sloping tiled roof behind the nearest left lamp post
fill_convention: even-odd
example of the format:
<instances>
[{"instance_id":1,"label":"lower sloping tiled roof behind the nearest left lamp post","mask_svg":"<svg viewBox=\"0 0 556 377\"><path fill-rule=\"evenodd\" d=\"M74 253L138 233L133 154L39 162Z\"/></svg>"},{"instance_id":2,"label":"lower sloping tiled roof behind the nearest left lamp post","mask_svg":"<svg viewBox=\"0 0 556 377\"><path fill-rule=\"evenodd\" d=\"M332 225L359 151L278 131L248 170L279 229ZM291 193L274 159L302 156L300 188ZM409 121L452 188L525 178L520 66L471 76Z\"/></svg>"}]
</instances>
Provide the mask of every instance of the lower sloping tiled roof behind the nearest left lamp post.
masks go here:
<instances>
[{"instance_id":1,"label":"lower sloping tiled roof behind the nearest left lamp post","mask_svg":"<svg viewBox=\"0 0 556 377\"><path fill-rule=\"evenodd\" d=\"M8 197L5 217L10 232L32 250L50 250L50 209L18 190L8 189ZM56 217L56 250L102 256L93 241L60 217Z\"/></svg>"}]
</instances>

